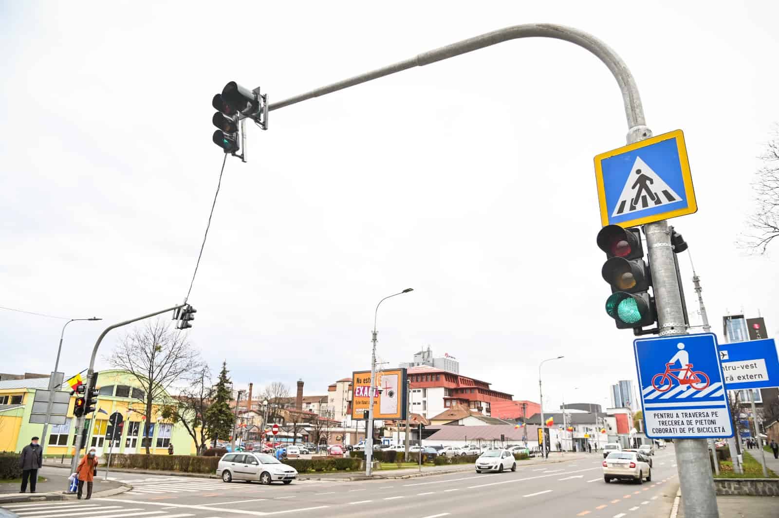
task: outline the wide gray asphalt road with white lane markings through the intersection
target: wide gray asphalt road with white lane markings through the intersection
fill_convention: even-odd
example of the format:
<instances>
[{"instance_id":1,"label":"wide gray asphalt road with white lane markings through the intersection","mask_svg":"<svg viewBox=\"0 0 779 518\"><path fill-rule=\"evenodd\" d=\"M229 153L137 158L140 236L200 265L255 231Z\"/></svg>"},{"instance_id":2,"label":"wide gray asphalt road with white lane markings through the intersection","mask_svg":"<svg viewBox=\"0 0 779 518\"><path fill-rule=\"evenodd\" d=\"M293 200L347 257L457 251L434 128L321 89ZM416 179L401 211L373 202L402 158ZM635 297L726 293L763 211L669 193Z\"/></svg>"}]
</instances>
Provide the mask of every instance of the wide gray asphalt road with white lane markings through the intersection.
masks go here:
<instances>
[{"instance_id":1,"label":"wide gray asphalt road with white lane markings through the intersection","mask_svg":"<svg viewBox=\"0 0 779 518\"><path fill-rule=\"evenodd\" d=\"M602 456L515 473L465 471L407 480L298 481L291 485L118 474L131 492L90 501L9 504L30 518L219 518L222 516L338 516L380 512L408 518L443 516L587 516L654 518L667 515L677 487L673 447L654 456L652 481L606 484Z\"/></svg>"}]
</instances>

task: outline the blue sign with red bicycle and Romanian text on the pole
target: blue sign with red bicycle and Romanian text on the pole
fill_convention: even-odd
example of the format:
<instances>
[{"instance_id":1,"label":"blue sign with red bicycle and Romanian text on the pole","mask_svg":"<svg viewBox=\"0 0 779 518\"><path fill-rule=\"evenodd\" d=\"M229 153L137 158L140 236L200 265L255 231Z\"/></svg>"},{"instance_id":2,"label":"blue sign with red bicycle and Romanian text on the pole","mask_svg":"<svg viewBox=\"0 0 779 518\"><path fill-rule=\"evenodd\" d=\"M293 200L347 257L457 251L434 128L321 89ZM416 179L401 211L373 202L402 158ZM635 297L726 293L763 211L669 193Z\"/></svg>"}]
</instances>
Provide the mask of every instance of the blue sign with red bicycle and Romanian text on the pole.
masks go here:
<instances>
[{"instance_id":1,"label":"blue sign with red bicycle and Romanian text on the pole","mask_svg":"<svg viewBox=\"0 0 779 518\"><path fill-rule=\"evenodd\" d=\"M633 341L651 439L732 437L728 396L713 333Z\"/></svg>"}]
</instances>

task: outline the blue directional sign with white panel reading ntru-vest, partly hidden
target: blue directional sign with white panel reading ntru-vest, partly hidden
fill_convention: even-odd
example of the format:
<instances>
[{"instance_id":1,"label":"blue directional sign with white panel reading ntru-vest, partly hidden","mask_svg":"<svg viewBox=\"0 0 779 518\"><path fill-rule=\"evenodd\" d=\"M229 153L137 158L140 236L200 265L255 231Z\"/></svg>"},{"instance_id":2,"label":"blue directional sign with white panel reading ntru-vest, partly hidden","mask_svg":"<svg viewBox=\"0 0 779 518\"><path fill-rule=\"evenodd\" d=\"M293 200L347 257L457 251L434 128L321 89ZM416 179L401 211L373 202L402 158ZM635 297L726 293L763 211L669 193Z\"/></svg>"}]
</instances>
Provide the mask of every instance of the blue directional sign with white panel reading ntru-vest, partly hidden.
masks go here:
<instances>
[{"instance_id":1,"label":"blue directional sign with white panel reading ntru-vest, partly hidden","mask_svg":"<svg viewBox=\"0 0 779 518\"><path fill-rule=\"evenodd\" d=\"M722 344L720 361L728 390L779 386L779 358L773 338Z\"/></svg>"}]
</instances>

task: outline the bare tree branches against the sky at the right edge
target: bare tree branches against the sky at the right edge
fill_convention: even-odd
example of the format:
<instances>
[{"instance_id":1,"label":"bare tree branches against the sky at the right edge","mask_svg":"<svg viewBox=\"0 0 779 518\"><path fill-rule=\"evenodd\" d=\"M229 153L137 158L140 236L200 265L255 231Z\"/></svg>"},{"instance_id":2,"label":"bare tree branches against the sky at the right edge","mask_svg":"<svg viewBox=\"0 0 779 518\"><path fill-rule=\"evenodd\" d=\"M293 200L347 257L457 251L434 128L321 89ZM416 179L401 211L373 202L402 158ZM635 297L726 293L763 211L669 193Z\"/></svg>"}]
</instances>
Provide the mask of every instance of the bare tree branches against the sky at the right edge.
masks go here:
<instances>
[{"instance_id":1,"label":"bare tree branches against the sky at the right edge","mask_svg":"<svg viewBox=\"0 0 779 518\"><path fill-rule=\"evenodd\" d=\"M764 254L771 241L779 236L779 125L774 129L767 149L760 160L763 167L752 184L755 209L747 225L750 230L738 240L738 245Z\"/></svg>"}]
</instances>

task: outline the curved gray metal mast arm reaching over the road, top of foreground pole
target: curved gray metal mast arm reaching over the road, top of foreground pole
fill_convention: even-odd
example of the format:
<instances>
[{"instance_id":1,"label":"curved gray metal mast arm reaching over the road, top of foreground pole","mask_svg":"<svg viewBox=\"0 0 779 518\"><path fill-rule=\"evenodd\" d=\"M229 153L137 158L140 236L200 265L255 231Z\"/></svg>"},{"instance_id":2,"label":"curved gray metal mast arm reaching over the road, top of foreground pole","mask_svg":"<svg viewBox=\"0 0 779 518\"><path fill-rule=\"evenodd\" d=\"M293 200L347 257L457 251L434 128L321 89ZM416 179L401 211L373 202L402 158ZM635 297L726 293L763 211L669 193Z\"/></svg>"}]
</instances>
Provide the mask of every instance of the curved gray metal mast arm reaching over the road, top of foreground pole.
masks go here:
<instances>
[{"instance_id":1,"label":"curved gray metal mast arm reaching over the road, top of foreground pole","mask_svg":"<svg viewBox=\"0 0 779 518\"><path fill-rule=\"evenodd\" d=\"M607 44L598 40L593 35L582 30L574 29L573 27L555 25L552 23L527 23L524 25L515 25L504 29L493 30L489 33L446 45L446 47L423 52L422 54L414 56L414 58L394 63L393 65L386 66L382 69L366 72L360 76L354 76L337 83L322 86L321 88L311 90L310 92L301 93L295 97L280 100L270 104L268 109L270 111L277 110L285 106L290 106L291 104L299 103L303 100L325 95L326 93L337 92L338 90L344 90L344 88L350 86L367 83L373 79L390 76L390 74L396 72L413 69L415 66L430 65L431 63L439 62L446 58L453 58L454 56L475 51L480 48L490 47L502 43L503 41L517 40L524 37L549 37L556 40L569 41L570 43L579 45L592 52L608 67L609 70L612 71L615 79L617 79L619 90L622 90L622 100L625 104L628 128L633 129L636 126L643 126L646 124L643 118L643 107L641 106L641 97L638 93L638 88L636 87L636 81L630 74L625 62L622 61L622 58L620 58L615 51L612 51Z\"/></svg>"}]
</instances>

